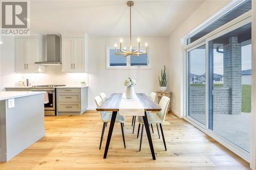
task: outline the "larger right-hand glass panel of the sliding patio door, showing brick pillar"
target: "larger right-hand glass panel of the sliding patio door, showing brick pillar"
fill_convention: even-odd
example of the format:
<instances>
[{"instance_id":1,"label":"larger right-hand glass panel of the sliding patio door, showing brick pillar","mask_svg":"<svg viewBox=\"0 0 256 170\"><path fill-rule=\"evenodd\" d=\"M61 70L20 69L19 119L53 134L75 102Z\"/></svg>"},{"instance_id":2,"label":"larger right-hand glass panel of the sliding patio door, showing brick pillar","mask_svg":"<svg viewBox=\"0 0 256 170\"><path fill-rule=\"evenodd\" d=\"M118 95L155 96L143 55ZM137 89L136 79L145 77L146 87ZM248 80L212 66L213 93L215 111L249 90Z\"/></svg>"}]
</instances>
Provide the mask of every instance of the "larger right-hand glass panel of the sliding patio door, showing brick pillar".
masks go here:
<instances>
[{"instance_id":1,"label":"larger right-hand glass panel of the sliding patio door, showing brick pillar","mask_svg":"<svg viewBox=\"0 0 256 170\"><path fill-rule=\"evenodd\" d=\"M209 129L250 151L251 23L209 41Z\"/></svg>"}]
</instances>

